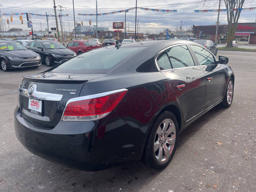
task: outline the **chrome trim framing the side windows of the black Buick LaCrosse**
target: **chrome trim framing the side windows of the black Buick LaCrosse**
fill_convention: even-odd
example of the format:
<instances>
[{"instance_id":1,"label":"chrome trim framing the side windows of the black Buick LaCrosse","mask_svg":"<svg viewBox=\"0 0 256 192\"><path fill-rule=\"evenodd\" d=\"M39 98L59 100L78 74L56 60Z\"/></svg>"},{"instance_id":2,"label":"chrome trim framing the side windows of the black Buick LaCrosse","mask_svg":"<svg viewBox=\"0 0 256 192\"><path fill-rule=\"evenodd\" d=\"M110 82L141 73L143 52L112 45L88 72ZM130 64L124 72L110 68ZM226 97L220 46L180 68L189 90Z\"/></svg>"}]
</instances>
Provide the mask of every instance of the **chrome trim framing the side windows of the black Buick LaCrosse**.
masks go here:
<instances>
[{"instance_id":1,"label":"chrome trim framing the side windows of the black Buick LaCrosse","mask_svg":"<svg viewBox=\"0 0 256 192\"><path fill-rule=\"evenodd\" d=\"M181 43L181 44L175 44L175 45L171 45L171 46L169 46L169 47L166 47L166 48L164 48L163 50L161 50L160 52L158 52L158 53L156 53L156 56L155 56L155 65L156 65L156 68L158 69L158 71L159 72L162 72L162 71L172 71L172 70L176 70L176 69L185 69L185 68L194 68L194 67L200 67L201 65L195 65L195 66L189 66L189 67L181 67L181 68L173 68L173 69L165 69L165 70L160 70L160 68L158 67L158 65L157 65L157 62L156 62L156 59L157 59L157 57L162 53L162 52L164 52L164 51L166 51L167 49L169 49L169 48L172 48L172 47L175 47L175 46L179 46L179 45L196 45L196 46L199 46L199 47L202 47L202 48L204 48L205 49L205 47L204 46L202 46L202 45L200 45L200 44L197 44L197 43L193 43L193 42L189 42L189 43ZM208 49L206 49L209 53L211 53L212 54L212 52L210 52ZM189 52L190 52L190 50L189 50ZM194 53L193 53L194 54ZM192 56L192 55L191 55ZM215 58L215 60L216 60L216 62L217 61L219 61L218 59L217 59L217 57L214 55L214 54L212 54L212 56ZM193 58L193 57L192 57ZM194 59L193 59L194 60ZM195 62L195 61L194 61ZM196 61L197 62L197 61ZM196 64L196 63L195 63ZM217 64L217 63L216 63ZM211 64L211 65L216 65L216 64ZM207 65L208 66L208 65Z\"/></svg>"}]
</instances>

